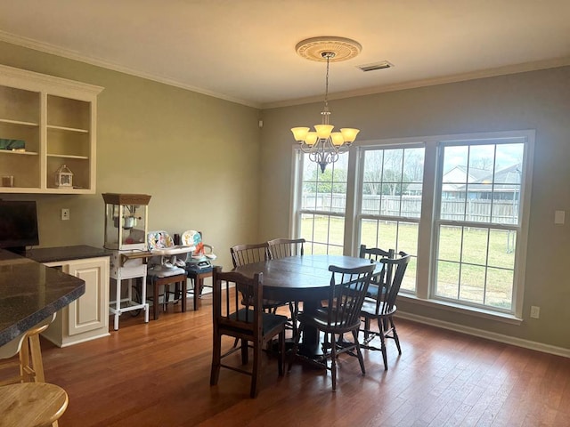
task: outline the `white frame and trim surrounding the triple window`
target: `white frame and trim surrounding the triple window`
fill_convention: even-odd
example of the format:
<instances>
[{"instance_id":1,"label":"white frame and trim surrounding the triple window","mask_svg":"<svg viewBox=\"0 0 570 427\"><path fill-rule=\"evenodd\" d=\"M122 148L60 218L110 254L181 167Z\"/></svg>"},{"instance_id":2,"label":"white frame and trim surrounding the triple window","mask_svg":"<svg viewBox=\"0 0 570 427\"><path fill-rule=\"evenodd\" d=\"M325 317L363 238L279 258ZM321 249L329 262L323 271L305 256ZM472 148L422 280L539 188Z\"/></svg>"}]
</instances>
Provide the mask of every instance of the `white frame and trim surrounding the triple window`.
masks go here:
<instances>
[{"instance_id":1,"label":"white frame and trim surrounding the triple window","mask_svg":"<svg viewBox=\"0 0 570 427\"><path fill-rule=\"evenodd\" d=\"M524 180L521 181L520 190L520 226L517 237L517 253L515 255L514 285L512 289L512 308L509 312L501 310L487 310L467 304L444 301L435 298L435 262L437 257L437 242L434 237L436 232L436 206L439 203L438 174L441 165L442 145L450 142L480 140L513 140L520 138L525 143L525 156L521 166L524 171ZM362 205L363 186L363 162L364 152L370 149L394 149L394 148L424 148L424 177L422 186L421 214L419 219L410 218L411 222L419 221L418 251L417 251L417 278L416 293L402 294L403 298L411 298L415 302L429 307L439 307L446 310L471 313L484 318L504 320L508 323L519 324L522 321L523 299L525 289L525 262L528 246L528 228L530 218L530 199L533 182L533 157L534 157L534 130L513 130L482 133L459 133L430 135L411 138L391 138L373 141L358 141L341 156L348 156L347 185L346 185L346 210L345 210L345 239L344 254L358 256L360 247L361 218L360 206ZM302 192L303 153L294 148L293 177L291 184L291 236L300 236L300 193ZM330 213L323 213L330 214ZM363 215L365 216L365 215ZM402 221L401 217L395 220ZM406 219L408 221L408 219ZM478 224L481 225L481 224Z\"/></svg>"}]
</instances>

